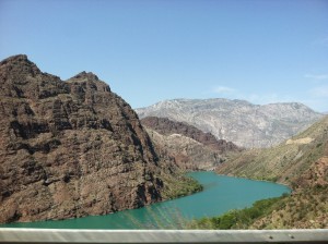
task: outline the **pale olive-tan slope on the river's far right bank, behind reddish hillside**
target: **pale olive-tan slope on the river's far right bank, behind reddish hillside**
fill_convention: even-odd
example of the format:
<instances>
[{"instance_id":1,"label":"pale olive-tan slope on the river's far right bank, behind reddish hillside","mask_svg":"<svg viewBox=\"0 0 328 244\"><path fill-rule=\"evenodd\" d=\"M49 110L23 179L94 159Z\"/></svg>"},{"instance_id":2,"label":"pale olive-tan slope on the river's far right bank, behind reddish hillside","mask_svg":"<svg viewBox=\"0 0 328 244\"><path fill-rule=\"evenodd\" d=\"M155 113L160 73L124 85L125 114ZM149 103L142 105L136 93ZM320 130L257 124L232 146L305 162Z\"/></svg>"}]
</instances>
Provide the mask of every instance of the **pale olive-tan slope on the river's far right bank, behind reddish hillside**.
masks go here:
<instances>
[{"instance_id":1,"label":"pale olive-tan slope on the river's far right bank, behind reddish hillside","mask_svg":"<svg viewBox=\"0 0 328 244\"><path fill-rule=\"evenodd\" d=\"M271 148L244 151L222 163L218 173L286 183L294 188L296 185L293 185L293 182L306 172L314 161L327 155L327 127L328 117L291 139L312 141L304 144L282 143Z\"/></svg>"}]
</instances>

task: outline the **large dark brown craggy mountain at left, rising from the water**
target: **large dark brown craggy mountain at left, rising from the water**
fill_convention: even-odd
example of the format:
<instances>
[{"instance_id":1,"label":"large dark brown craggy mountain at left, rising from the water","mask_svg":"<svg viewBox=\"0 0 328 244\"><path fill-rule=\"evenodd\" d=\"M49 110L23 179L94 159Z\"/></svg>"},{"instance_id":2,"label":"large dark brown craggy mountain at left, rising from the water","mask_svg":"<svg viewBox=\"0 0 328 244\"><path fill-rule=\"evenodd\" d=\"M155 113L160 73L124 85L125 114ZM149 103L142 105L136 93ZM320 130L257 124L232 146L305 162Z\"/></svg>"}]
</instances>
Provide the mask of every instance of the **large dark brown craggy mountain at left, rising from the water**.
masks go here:
<instances>
[{"instance_id":1,"label":"large dark brown craggy mountain at left, rising from the water","mask_svg":"<svg viewBox=\"0 0 328 244\"><path fill-rule=\"evenodd\" d=\"M0 222L105 215L199 190L93 73L0 62Z\"/></svg>"}]
</instances>

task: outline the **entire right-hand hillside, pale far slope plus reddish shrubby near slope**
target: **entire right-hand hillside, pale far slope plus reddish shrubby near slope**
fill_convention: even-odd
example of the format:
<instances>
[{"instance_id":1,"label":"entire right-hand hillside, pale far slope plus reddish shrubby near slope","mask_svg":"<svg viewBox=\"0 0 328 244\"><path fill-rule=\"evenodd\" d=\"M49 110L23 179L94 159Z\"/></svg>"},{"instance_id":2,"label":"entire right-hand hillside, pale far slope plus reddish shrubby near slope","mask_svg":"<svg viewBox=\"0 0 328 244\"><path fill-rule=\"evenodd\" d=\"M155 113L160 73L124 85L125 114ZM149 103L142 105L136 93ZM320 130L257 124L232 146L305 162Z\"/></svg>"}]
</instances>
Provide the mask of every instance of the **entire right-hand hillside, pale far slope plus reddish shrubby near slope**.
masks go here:
<instances>
[{"instance_id":1,"label":"entire right-hand hillside, pale far slope plus reddish shrubby near slope","mask_svg":"<svg viewBox=\"0 0 328 244\"><path fill-rule=\"evenodd\" d=\"M292 187L292 195L251 228L328 228L328 117L278 146L244 151L216 172Z\"/></svg>"}]
</instances>

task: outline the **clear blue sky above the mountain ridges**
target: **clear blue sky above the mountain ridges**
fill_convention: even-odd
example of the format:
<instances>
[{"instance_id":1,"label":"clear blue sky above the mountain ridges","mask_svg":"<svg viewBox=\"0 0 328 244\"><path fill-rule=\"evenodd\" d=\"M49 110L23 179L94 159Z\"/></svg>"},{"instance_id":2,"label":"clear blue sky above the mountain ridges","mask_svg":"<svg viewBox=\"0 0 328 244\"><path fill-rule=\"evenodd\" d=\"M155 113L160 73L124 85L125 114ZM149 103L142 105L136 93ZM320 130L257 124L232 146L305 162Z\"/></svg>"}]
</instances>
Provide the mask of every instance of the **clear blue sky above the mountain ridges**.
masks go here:
<instances>
[{"instance_id":1,"label":"clear blue sky above the mountain ridges","mask_svg":"<svg viewBox=\"0 0 328 244\"><path fill-rule=\"evenodd\" d=\"M327 0L0 0L0 59L91 71L133 108L172 98L328 111Z\"/></svg>"}]
</instances>

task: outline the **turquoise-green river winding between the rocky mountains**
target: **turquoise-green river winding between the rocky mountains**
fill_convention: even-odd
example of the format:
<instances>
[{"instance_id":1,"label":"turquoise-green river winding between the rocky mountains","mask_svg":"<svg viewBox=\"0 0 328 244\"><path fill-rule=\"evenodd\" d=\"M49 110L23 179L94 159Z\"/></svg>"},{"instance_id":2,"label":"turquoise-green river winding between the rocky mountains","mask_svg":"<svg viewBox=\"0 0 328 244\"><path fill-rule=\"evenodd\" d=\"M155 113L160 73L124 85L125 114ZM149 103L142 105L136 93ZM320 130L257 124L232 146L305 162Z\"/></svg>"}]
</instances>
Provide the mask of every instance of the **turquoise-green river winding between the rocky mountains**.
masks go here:
<instances>
[{"instance_id":1,"label":"turquoise-green river winding between the rocky mountains","mask_svg":"<svg viewBox=\"0 0 328 244\"><path fill-rule=\"evenodd\" d=\"M11 223L2 224L0 228L179 229L177 222L180 222L181 219L218 216L231 209L249 207L254 202L259 199L290 193L290 188L284 185L222 176L214 172L194 172L189 175L203 185L203 192L107 216Z\"/></svg>"}]
</instances>

